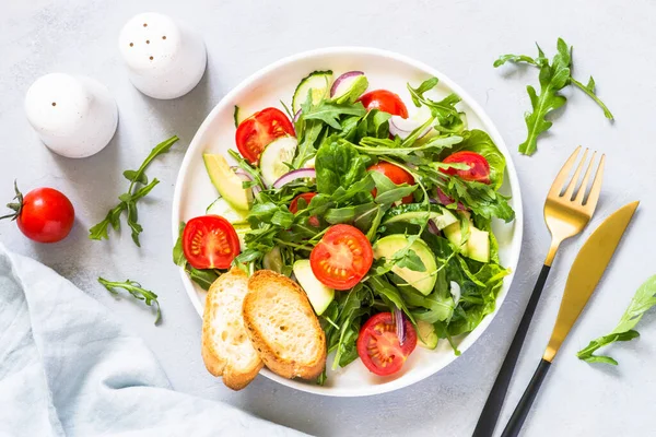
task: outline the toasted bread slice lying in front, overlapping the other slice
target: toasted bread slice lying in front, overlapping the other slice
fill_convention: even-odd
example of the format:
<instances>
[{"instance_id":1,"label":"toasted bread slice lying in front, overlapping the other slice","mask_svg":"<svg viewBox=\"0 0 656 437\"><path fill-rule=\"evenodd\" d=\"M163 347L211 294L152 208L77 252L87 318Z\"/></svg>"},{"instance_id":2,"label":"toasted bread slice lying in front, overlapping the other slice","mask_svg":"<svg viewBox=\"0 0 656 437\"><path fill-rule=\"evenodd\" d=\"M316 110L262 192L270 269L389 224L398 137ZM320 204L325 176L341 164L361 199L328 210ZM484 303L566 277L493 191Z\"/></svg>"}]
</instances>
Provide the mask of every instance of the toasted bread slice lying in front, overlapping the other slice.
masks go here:
<instances>
[{"instance_id":1,"label":"toasted bread slice lying in front, overlapping the other slice","mask_svg":"<svg viewBox=\"0 0 656 437\"><path fill-rule=\"evenodd\" d=\"M326 334L305 292L289 277L260 270L248 280L244 323L269 369L284 378L318 377L326 365Z\"/></svg>"}]
</instances>

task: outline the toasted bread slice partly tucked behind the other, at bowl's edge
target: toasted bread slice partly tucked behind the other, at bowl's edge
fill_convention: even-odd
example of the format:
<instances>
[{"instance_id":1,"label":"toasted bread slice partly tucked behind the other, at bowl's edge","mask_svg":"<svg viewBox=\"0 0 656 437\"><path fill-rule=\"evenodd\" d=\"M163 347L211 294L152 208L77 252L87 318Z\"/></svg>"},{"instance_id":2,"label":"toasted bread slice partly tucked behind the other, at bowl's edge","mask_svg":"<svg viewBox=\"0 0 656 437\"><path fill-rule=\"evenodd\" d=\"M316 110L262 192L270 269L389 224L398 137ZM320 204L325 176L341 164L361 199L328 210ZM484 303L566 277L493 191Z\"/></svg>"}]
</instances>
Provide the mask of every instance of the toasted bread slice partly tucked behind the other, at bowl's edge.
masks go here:
<instances>
[{"instance_id":1,"label":"toasted bread slice partly tucked behind the other, at bowl's edge","mask_svg":"<svg viewBox=\"0 0 656 437\"><path fill-rule=\"evenodd\" d=\"M202 359L210 374L241 390L255 379L262 361L253 347L242 317L248 276L233 268L210 287L202 317Z\"/></svg>"}]
</instances>

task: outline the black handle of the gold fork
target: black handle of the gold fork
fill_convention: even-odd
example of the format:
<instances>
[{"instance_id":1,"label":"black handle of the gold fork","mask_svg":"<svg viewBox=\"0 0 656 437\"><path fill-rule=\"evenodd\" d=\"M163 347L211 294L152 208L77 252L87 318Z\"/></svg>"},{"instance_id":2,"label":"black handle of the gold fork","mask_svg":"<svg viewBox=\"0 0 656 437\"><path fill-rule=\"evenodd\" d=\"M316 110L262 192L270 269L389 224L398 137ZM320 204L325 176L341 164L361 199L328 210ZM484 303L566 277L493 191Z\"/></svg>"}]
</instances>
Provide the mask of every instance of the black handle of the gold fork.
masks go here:
<instances>
[{"instance_id":1,"label":"black handle of the gold fork","mask_svg":"<svg viewBox=\"0 0 656 437\"><path fill-rule=\"evenodd\" d=\"M494 386L492 386L492 390L488 395L488 400L485 401L483 411L479 416L479 421L476 425L472 437L491 437L494 433L494 426L496 425L496 421L499 421L499 413L501 413L501 408L503 406L503 401L505 400L506 392L511 383L511 378L513 377L513 371L515 370L515 364L519 357L524 339L528 332L528 327L530 326L530 320L532 319L534 312L536 312L536 307L540 300L540 295L542 294L542 288L544 288L544 283L547 282L550 270L550 265L542 265L542 270L540 271L540 275L538 276L538 281L536 282L532 294L530 295L530 299L528 300L528 305L524 311L519 327L517 327L517 332L515 332L515 336L513 338L511 347L508 349L506 357L501 365L501 370L499 370Z\"/></svg>"}]
</instances>

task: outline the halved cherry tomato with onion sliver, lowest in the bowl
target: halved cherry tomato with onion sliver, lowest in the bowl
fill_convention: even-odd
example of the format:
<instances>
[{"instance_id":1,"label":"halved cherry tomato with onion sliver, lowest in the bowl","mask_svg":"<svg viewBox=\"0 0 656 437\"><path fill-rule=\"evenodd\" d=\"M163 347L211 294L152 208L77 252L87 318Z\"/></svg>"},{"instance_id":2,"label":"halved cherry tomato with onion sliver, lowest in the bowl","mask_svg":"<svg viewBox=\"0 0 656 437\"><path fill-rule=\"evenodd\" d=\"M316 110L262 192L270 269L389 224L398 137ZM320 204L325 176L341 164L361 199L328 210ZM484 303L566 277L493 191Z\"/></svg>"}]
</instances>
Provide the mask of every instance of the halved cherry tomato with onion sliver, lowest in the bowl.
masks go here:
<instances>
[{"instance_id":1,"label":"halved cherry tomato with onion sliver, lowest in the bowl","mask_svg":"<svg viewBox=\"0 0 656 437\"><path fill-rule=\"evenodd\" d=\"M417 346L417 332L412 323L403 320L406 341L400 344L391 312L379 312L370 318L358 335L358 355L370 371L388 376L403 367Z\"/></svg>"}]
</instances>

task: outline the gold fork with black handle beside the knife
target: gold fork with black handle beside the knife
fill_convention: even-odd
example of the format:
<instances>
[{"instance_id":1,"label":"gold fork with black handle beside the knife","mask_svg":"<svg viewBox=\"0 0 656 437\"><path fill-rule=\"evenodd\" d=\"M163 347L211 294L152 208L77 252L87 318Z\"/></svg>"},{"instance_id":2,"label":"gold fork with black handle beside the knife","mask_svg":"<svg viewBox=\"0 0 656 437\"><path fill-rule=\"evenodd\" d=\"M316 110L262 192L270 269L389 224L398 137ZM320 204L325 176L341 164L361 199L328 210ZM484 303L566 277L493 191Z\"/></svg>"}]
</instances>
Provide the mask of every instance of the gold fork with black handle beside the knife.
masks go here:
<instances>
[{"instance_id":1,"label":"gold fork with black handle beside the knife","mask_svg":"<svg viewBox=\"0 0 656 437\"><path fill-rule=\"evenodd\" d=\"M551 233L551 246L547 259L544 260L544 265L542 265L542 270L536 282L536 286L530 295L530 299L528 300L526 310L524 311L524 316L522 317L522 321L519 322L519 327L517 328L517 332L515 332L515 336L513 338L511 347L501 365L494 386L492 386L492 390L488 395L488 400L485 401L485 405L483 406L483 411L481 412L472 437L490 437L494 433L494 426L499 420L499 413L503 406L503 401L505 400L508 385L513 371L515 370L515 364L517 363L519 352L522 351L522 345L524 344L526 332L530 326L530 320L532 319L538 302L540 300L540 295L542 294L542 288L547 282L547 276L549 276L549 270L551 269L558 248L565 239L579 234L595 213L595 208L597 206L597 201L599 200L599 193L601 191L601 179L604 178L606 155L601 155L601 158L599 160L595 179L593 180L593 185L588 192L587 187L590 176L593 175L597 152L593 152L593 156L583 176L583 181L578 184L589 150L585 150L581 163L570 178L570 173L577 161L579 152L581 146L576 147L567 162L565 162L547 194L547 201L544 202L544 222Z\"/></svg>"}]
</instances>

